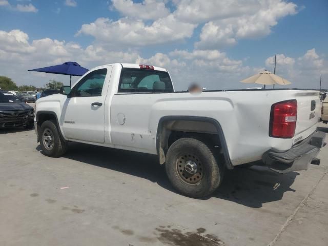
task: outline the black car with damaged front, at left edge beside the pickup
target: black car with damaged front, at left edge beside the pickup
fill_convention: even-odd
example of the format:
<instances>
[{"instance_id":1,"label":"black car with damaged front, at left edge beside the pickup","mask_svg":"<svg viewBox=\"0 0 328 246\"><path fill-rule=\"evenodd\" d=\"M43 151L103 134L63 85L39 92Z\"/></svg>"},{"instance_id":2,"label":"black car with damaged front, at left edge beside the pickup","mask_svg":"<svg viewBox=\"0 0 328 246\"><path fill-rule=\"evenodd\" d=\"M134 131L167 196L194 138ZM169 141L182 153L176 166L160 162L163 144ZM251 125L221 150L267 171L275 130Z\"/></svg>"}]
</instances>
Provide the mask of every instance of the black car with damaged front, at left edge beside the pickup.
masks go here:
<instances>
[{"instance_id":1,"label":"black car with damaged front, at left edge beside the pickup","mask_svg":"<svg viewBox=\"0 0 328 246\"><path fill-rule=\"evenodd\" d=\"M14 94L0 90L0 128L34 126L34 109Z\"/></svg>"}]
</instances>

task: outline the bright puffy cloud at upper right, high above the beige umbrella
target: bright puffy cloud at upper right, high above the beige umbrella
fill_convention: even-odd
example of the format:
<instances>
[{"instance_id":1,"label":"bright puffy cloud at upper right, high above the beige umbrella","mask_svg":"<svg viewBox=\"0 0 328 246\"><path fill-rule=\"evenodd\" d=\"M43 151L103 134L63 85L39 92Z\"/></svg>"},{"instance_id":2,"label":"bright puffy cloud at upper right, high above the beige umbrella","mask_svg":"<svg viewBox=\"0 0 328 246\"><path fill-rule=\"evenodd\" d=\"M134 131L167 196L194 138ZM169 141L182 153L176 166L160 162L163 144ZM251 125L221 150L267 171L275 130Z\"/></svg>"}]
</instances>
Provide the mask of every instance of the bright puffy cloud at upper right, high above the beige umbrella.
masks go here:
<instances>
[{"instance_id":1,"label":"bright puffy cloud at upper right, high above the beige umbrella","mask_svg":"<svg viewBox=\"0 0 328 246\"><path fill-rule=\"evenodd\" d=\"M247 4L248 1L242 1ZM206 23L196 48L213 49L234 45L240 38L258 38L269 35L278 19L297 13L297 6L281 0L257 1L256 12L245 12L237 17L221 18ZM239 3L240 4L240 3Z\"/></svg>"}]
</instances>

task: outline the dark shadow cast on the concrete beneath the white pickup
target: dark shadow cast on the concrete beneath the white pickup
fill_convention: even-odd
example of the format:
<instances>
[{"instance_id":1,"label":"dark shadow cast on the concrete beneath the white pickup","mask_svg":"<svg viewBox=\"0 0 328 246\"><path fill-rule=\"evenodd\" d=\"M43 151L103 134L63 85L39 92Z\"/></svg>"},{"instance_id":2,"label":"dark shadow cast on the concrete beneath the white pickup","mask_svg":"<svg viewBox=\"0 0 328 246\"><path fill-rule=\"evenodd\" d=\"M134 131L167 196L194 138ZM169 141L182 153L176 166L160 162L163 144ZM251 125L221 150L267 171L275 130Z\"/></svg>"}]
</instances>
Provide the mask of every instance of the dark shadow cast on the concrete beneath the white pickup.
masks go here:
<instances>
[{"instance_id":1,"label":"dark shadow cast on the concrete beneath the white pickup","mask_svg":"<svg viewBox=\"0 0 328 246\"><path fill-rule=\"evenodd\" d=\"M155 155L72 142L64 158L144 178L175 192L166 176L165 166L159 165ZM220 188L205 199L216 197L260 208L265 202L280 200L284 192L294 191L290 186L297 175L296 172L279 175L256 166L227 170Z\"/></svg>"}]
</instances>

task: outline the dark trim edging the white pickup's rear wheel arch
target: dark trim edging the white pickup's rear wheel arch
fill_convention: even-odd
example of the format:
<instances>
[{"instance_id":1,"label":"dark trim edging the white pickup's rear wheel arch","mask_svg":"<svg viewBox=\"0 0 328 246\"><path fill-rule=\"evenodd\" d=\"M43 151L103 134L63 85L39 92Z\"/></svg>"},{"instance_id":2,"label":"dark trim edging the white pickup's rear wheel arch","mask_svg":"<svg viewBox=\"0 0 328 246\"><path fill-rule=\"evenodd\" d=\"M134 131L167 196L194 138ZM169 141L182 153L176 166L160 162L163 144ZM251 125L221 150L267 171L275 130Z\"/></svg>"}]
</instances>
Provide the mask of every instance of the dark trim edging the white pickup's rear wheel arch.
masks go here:
<instances>
[{"instance_id":1,"label":"dark trim edging the white pickup's rear wheel arch","mask_svg":"<svg viewBox=\"0 0 328 246\"><path fill-rule=\"evenodd\" d=\"M222 148L222 152L223 152L223 156L224 156L224 161L226 163L226 167L228 169L233 169L234 168L234 166L232 165L231 159L230 159L229 150L228 150L226 138L224 137L222 127L216 119L213 119L213 118L210 118L210 117L176 116L176 115L161 117L159 119L159 122L158 122L157 134L156 134L156 150L157 150L158 155L160 155L160 150L159 150L160 143L159 143L159 141L160 141L160 135L162 133L162 125L163 125L163 122L167 121L167 120L202 121L202 122L209 122L209 123L213 124L216 128L217 135L219 136L219 140L220 140L220 144L221 144L221 148Z\"/></svg>"}]
</instances>

